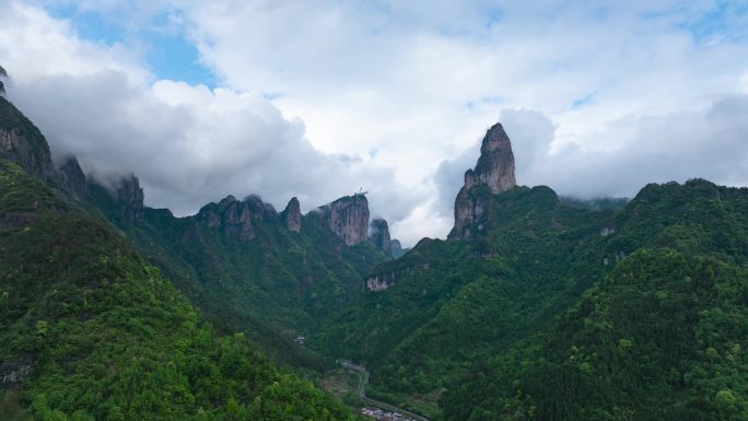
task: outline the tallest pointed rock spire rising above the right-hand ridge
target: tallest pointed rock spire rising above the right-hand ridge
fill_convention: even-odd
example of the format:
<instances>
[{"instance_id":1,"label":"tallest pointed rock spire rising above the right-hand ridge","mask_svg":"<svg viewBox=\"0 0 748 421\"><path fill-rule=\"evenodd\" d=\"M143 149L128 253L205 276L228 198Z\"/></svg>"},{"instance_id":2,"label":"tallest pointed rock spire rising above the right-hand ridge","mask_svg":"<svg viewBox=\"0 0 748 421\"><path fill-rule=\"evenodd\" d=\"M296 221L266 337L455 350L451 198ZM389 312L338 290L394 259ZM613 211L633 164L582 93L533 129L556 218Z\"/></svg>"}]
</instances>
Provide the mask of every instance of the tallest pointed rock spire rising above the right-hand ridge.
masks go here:
<instances>
[{"instance_id":1,"label":"tallest pointed rock spire rising above the right-hand ridge","mask_svg":"<svg viewBox=\"0 0 748 421\"><path fill-rule=\"evenodd\" d=\"M495 124L483 137L475 169L465 173L465 186L455 199L455 227L449 238L467 239L482 231L491 194L504 192L516 184L512 142L501 124Z\"/></svg>"}]
</instances>

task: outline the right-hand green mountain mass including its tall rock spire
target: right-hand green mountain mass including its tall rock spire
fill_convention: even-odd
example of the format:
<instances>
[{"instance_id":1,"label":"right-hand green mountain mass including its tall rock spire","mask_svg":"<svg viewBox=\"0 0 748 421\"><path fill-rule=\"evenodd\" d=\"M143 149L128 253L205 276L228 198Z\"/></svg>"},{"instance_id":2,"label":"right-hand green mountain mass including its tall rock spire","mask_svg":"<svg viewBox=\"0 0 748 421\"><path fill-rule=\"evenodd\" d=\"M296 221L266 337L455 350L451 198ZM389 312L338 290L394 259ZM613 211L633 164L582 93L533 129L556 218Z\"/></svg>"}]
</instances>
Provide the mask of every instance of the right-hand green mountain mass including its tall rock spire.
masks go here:
<instances>
[{"instance_id":1,"label":"right-hand green mountain mass including its tall rock spire","mask_svg":"<svg viewBox=\"0 0 748 421\"><path fill-rule=\"evenodd\" d=\"M581 207L491 168L500 126L483 145L451 239L375 268L313 344L434 418L748 419L748 189Z\"/></svg>"}]
</instances>

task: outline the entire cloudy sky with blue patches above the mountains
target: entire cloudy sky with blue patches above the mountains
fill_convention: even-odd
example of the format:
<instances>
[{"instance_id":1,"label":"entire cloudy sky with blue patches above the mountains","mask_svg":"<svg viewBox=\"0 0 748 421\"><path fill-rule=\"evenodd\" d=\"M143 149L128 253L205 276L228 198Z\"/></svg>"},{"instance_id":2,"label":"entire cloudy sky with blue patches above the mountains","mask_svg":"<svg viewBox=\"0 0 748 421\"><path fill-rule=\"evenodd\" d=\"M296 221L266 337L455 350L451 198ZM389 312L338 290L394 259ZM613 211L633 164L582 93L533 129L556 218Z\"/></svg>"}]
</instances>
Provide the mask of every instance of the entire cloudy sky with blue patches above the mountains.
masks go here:
<instances>
[{"instance_id":1,"label":"entire cloudy sky with blue patches above the mountains","mask_svg":"<svg viewBox=\"0 0 748 421\"><path fill-rule=\"evenodd\" d=\"M748 185L748 1L0 0L14 102L101 180L178 215L360 188L445 237L496 121L517 183Z\"/></svg>"}]
</instances>

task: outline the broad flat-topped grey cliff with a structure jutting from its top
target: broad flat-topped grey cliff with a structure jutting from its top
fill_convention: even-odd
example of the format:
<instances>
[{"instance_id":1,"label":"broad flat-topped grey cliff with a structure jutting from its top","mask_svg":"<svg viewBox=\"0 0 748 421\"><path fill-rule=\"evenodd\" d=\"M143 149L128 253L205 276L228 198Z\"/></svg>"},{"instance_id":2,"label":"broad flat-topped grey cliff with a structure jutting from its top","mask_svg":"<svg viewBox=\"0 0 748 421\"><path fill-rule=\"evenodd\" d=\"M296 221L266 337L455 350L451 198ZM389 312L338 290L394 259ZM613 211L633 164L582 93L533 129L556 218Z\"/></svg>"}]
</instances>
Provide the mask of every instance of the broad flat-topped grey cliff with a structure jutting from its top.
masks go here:
<instances>
[{"instance_id":1,"label":"broad flat-topped grey cliff with a structure jutting from its top","mask_svg":"<svg viewBox=\"0 0 748 421\"><path fill-rule=\"evenodd\" d=\"M369 200L362 194L319 207L319 219L347 245L363 243L369 233Z\"/></svg>"}]
</instances>

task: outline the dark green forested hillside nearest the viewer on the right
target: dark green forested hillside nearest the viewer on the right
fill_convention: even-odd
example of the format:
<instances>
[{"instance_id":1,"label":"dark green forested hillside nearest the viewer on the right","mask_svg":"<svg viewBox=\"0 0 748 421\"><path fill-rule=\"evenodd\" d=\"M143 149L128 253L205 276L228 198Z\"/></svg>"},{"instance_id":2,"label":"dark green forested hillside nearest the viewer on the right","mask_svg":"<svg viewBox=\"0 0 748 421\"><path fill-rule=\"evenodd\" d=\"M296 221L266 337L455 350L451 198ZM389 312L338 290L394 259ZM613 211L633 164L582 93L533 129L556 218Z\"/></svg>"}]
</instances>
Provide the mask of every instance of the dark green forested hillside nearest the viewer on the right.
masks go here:
<instances>
[{"instance_id":1,"label":"dark green forested hillside nearest the viewer on the right","mask_svg":"<svg viewBox=\"0 0 748 421\"><path fill-rule=\"evenodd\" d=\"M748 419L746 207L746 189L647 186L607 242L635 252L477 364L445 396L446 419Z\"/></svg>"}]
</instances>

